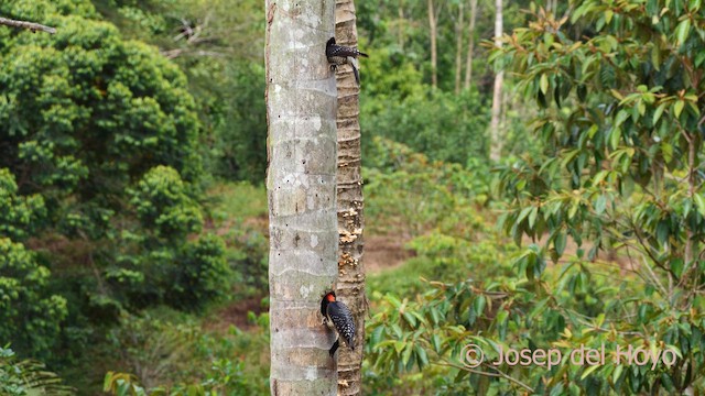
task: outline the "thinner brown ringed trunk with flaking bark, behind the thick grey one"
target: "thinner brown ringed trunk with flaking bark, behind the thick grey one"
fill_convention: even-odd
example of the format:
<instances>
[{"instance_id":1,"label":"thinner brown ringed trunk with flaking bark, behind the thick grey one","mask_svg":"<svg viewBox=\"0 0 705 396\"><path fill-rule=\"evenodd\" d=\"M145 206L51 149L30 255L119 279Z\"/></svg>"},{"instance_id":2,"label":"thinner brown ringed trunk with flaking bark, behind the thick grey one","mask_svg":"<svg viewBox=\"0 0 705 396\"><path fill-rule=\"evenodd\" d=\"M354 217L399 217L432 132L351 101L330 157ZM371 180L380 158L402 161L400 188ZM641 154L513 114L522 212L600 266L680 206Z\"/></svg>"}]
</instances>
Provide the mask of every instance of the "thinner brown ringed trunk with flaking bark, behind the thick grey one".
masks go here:
<instances>
[{"instance_id":1,"label":"thinner brown ringed trunk with flaking bark, behind the thick grey one","mask_svg":"<svg viewBox=\"0 0 705 396\"><path fill-rule=\"evenodd\" d=\"M354 0L337 0L335 35L338 43L357 46ZM372 55L375 56L375 55ZM365 75L364 69L361 75ZM360 154L359 92L352 69L337 73L338 87L338 298L355 317L355 351L340 348L338 355L338 395L360 395L365 349L365 267L362 266L362 174ZM365 84L365 79L361 78Z\"/></svg>"}]
</instances>

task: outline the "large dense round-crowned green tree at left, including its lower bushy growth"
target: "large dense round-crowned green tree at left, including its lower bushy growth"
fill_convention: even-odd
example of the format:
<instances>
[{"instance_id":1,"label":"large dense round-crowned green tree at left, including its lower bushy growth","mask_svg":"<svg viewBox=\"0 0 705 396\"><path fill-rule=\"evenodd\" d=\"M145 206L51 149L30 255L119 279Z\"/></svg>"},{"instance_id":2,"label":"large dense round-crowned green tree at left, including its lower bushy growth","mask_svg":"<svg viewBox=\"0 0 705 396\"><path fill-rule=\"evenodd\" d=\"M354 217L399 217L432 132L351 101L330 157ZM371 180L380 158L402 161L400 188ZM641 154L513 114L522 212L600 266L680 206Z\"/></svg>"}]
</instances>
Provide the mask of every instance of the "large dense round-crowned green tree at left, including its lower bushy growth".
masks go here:
<instances>
[{"instance_id":1,"label":"large dense round-crowned green tree at left, including its lower bushy growth","mask_svg":"<svg viewBox=\"0 0 705 396\"><path fill-rule=\"evenodd\" d=\"M188 239L203 226L203 165L184 74L98 21L89 1L18 0L0 13L57 28L54 35L0 30L0 182L10 186L0 206L21 209L0 221L0 235L33 238L53 286L72 301L59 312L68 309L73 324L84 316L105 322L126 307L192 308L221 295L223 242ZM33 262L24 248L7 246ZM46 268L39 274L46 287ZM29 315L23 309L13 315ZM53 336L56 326L46 324Z\"/></svg>"}]
</instances>

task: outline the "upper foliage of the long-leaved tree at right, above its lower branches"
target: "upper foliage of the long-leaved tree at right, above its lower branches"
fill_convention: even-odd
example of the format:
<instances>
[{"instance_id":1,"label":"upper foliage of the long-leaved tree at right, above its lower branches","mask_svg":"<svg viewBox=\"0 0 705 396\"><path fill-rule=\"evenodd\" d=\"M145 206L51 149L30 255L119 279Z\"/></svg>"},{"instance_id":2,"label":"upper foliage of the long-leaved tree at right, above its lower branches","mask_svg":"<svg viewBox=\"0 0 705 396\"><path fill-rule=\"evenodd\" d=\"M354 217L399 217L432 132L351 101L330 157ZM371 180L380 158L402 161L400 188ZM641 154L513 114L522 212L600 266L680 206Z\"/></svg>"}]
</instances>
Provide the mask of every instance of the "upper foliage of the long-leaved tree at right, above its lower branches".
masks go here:
<instances>
[{"instance_id":1,"label":"upper foliage of the long-leaved tree at right, above its lower branches","mask_svg":"<svg viewBox=\"0 0 705 396\"><path fill-rule=\"evenodd\" d=\"M586 1L572 26L540 11L506 38L520 87L546 108L534 128L552 155L506 173L514 237L550 231L554 258L566 235L595 241L589 260L622 248L655 271L661 297L693 302L704 282L701 19L697 3Z\"/></svg>"}]
</instances>

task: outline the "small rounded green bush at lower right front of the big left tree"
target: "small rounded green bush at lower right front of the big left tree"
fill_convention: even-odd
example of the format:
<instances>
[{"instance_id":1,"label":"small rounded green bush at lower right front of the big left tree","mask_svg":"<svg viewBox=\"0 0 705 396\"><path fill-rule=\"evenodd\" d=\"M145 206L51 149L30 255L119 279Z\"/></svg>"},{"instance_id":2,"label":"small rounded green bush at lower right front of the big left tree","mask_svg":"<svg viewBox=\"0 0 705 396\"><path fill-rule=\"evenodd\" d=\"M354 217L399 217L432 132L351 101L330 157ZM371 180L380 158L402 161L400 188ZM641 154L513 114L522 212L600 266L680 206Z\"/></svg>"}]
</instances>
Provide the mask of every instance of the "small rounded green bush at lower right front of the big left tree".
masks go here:
<instances>
[{"instance_id":1,"label":"small rounded green bush at lower right front of the big left tree","mask_svg":"<svg viewBox=\"0 0 705 396\"><path fill-rule=\"evenodd\" d=\"M188 240L200 231L203 215L187 188L176 170L158 166L130 190L139 223L123 230L124 253L107 273L126 302L194 308L228 289L231 271L223 240L214 234Z\"/></svg>"}]
</instances>

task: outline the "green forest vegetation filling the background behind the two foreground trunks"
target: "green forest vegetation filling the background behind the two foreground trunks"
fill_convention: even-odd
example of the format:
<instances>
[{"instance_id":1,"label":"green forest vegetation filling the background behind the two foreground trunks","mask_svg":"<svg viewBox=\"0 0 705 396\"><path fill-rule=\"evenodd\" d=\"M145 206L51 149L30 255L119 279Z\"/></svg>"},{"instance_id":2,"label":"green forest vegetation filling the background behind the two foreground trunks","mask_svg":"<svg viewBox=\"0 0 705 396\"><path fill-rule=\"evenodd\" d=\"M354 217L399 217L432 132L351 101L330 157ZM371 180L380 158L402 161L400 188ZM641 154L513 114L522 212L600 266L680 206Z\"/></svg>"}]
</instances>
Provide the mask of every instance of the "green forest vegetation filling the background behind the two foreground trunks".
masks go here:
<instances>
[{"instance_id":1,"label":"green forest vegetation filling the background behind the two foreground trunks","mask_svg":"<svg viewBox=\"0 0 705 396\"><path fill-rule=\"evenodd\" d=\"M479 1L457 89L469 7L432 4L435 87L427 3L356 2L365 393L703 393L701 2L511 2L497 50ZM261 2L0 15L57 28L0 29L0 393L268 393ZM468 343L677 360L470 369Z\"/></svg>"}]
</instances>

